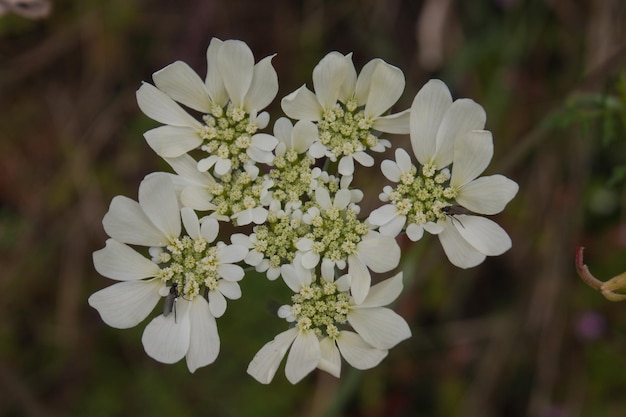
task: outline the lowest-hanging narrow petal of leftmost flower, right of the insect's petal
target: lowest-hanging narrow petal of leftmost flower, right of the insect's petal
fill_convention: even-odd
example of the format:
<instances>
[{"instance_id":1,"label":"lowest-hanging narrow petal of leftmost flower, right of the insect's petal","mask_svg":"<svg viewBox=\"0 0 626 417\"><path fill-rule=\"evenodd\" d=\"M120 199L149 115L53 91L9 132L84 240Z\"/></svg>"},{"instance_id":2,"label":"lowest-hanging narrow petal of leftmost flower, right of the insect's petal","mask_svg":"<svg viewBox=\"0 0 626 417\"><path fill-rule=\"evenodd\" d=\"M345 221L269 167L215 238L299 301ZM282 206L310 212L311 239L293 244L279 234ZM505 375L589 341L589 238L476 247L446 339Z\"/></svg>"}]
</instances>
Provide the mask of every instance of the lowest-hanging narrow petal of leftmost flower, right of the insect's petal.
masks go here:
<instances>
[{"instance_id":1,"label":"lowest-hanging narrow petal of leftmost flower, right of the insect's petal","mask_svg":"<svg viewBox=\"0 0 626 417\"><path fill-rule=\"evenodd\" d=\"M220 336L217 333L215 318L209 311L204 297L195 297L191 302L191 330L187 368L190 372L215 361L220 353Z\"/></svg>"}]
</instances>

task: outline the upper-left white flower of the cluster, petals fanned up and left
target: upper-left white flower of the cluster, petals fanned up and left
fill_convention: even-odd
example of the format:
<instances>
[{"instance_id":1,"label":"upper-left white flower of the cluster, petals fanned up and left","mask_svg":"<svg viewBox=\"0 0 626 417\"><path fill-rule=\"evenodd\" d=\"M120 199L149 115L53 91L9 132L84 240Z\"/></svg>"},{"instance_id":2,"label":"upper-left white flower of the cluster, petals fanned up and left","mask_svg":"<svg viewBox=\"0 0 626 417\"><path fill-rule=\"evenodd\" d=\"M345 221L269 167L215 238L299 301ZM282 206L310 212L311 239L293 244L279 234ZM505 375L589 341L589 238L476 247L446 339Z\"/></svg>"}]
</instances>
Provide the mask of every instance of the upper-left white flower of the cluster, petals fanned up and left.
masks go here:
<instances>
[{"instance_id":1,"label":"upper-left white flower of the cluster, petals fanned up and left","mask_svg":"<svg viewBox=\"0 0 626 417\"><path fill-rule=\"evenodd\" d=\"M154 73L156 87L144 83L137 91L141 110L165 125L144 134L150 147L167 158L200 148L208 156L198 169L213 168L216 176L242 164L270 162L276 138L255 133L267 126L269 115L259 112L278 92L271 59L255 65L244 42L213 38L204 81L181 61ZM177 102L204 114L202 122Z\"/></svg>"}]
</instances>

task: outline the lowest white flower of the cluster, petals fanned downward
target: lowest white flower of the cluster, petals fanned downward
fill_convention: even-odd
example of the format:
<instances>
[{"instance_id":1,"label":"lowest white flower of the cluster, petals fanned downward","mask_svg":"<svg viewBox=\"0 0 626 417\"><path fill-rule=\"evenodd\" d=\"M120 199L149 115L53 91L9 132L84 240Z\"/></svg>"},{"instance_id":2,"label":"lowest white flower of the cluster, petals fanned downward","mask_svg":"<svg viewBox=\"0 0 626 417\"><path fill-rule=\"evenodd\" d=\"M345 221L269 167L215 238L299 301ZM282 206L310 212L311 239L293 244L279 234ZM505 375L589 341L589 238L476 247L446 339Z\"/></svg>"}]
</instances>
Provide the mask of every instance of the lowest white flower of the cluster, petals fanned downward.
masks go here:
<instances>
[{"instance_id":1,"label":"lowest white flower of the cluster, petals fanned downward","mask_svg":"<svg viewBox=\"0 0 626 417\"><path fill-rule=\"evenodd\" d=\"M295 384L315 368L339 377L342 356L357 369L373 368L389 349L411 336L406 321L383 307L402 291L402 273L373 286L367 298L356 304L345 292L345 275L336 282L316 283L310 271L290 265L283 269L283 278L295 295L293 304L281 307L279 315L296 325L252 359L248 373L257 381L270 383L288 350L285 375Z\"/></svg>"}]
</instances>

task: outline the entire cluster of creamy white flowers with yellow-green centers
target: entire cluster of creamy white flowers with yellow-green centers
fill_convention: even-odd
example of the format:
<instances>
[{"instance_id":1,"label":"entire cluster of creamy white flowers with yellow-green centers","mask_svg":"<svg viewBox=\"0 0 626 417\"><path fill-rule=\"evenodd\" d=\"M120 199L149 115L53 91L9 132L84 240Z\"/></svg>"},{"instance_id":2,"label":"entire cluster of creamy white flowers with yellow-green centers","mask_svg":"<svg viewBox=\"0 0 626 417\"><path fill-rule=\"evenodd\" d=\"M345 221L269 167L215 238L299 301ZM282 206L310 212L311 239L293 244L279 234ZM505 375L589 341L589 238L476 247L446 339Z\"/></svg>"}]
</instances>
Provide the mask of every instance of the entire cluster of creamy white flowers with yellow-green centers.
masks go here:
<instances>
[{"instance_id":1,"label":"entire cluster of creamy white flowers with yellow-green centers","mask_svg":"<svg viewBox=\"0 0 626 417\"><path fill-rule=\"evenodd\" d=\"M293 295L277 312L288 330L259 350L248 373L269 383L287 355L292 383L316 368L339 377L342 357L369 369L411 336L386 307L402 291L402 273L372 285L371 272L398 267L396 236L416 241L426 230L453 264L475 266L510 248L506 232L479 214L502 211L517 184L478 177L493 153L485 113L471 100L453 102L441 81L390 114L404 75L380 59L357 74L351 55L329 53L313 70L314 91L302 86L283 98L288 118L267 133L263 110L278 92L271 59L255 64L245 43L213 39L204 80L175 62L139 88L139 107L162 123L145 139L175 173L148 175L138 202L112 200L103 219L110 239L93 261L120 282L89 304L108 325L129 328L161 301L144 348L164 363L186 358L194 372L217 358L216 319L227 299L242 296L244 267L253 268L281 277ZM383 161L395 186L364 214L363 192L351 186L355 162L374 166L372 152L391 147L384 133L410 134L419 165L402 148ZM237 233L224 239L221 223Z\"/></svg>"}]
</instances>

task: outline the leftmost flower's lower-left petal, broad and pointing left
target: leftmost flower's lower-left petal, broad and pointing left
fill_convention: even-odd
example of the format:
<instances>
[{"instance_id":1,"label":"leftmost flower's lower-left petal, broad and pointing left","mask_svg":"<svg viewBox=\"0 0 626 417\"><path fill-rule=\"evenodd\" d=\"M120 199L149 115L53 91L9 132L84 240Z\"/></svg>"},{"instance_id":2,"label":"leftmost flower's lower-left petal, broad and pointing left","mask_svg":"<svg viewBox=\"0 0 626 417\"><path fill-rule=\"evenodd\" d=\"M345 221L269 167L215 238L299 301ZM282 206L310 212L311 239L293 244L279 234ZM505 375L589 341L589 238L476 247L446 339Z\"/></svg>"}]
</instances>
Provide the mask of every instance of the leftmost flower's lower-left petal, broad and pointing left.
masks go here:
<instances>
[{"instance_id":1,"label":"leftmost flower's lower-left petal, broad and pointing left","mask_svg":"<svg viewBox=\"0 0 626 417\"><path fill-rule=\"evenodd\" d=\"M88 302L107 325L128 329L154 310L161 299L161 287L159 280L120 282L91 294Z\"/></svg>"}]
</instances>

